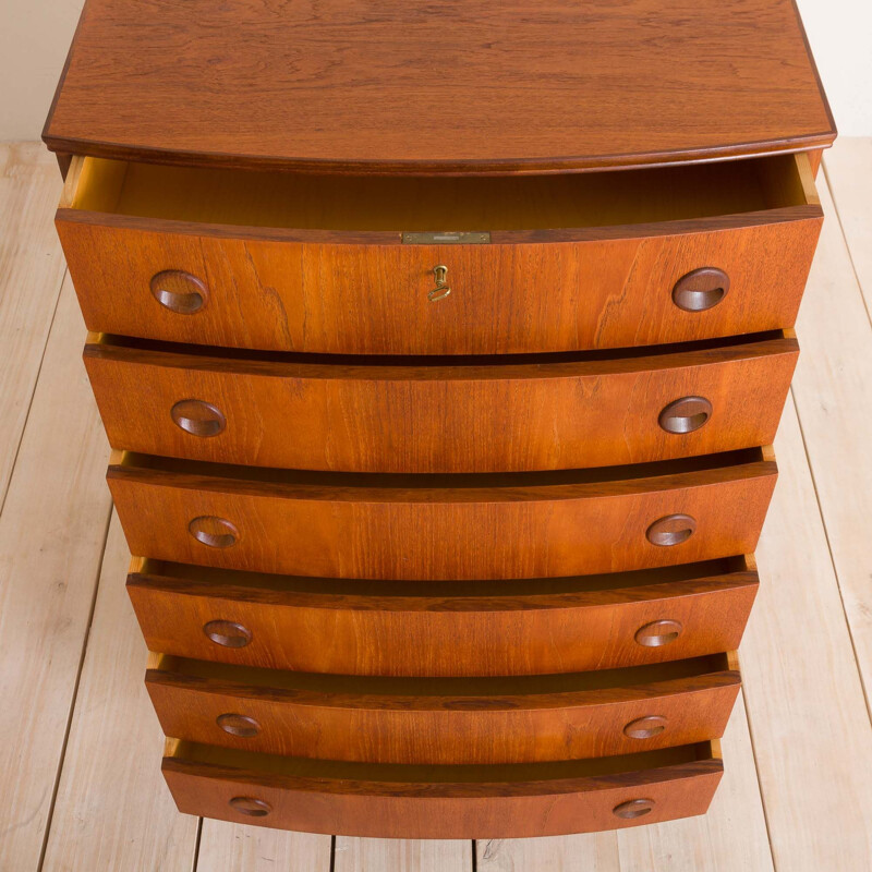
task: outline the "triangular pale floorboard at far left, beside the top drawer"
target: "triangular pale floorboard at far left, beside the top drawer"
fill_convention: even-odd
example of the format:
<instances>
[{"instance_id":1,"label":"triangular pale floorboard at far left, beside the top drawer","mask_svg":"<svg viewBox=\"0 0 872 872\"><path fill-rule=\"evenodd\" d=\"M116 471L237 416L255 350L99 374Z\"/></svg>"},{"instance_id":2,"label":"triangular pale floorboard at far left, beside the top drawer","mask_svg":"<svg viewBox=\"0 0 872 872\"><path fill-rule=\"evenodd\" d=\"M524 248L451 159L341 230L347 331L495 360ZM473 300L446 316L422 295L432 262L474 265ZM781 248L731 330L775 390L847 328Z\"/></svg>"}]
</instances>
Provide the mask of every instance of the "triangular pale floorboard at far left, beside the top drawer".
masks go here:
<instances>
[{"instance_id":1,"label":"triangular pale floorboard at far left, beside the top drawer","mask_svg":"<svg viewBox=\"0 0 872 872\"><path fill-rule=\"evenodd\" d=\"M65 270L52 221L60 193L41 143L0 144L0 506Z\"/></svg>"}]
</instances>

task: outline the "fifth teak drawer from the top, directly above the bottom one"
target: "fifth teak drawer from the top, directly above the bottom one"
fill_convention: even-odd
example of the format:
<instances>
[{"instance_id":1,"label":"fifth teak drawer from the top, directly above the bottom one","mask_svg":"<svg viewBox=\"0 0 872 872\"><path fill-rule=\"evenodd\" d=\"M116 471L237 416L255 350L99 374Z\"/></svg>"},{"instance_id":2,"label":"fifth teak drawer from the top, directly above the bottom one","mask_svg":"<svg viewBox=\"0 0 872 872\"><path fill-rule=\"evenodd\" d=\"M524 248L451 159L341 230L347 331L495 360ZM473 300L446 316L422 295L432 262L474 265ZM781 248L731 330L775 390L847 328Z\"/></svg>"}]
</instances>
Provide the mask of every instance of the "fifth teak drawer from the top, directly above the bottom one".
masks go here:
<instances>
[{"instance_id":1,"label":"fifth teak drawer from the top, directly above the bottom one","mask_svg":"<svg viewBox=\"0 0 872 872\"><path fill-rule=\"evenodd\" d=\"M727 654L511 678L326 676L155 654L145 683L164 732L179 739L361 763L489 765L719 738L740 679Z\"/></svg>"}]
</instances>

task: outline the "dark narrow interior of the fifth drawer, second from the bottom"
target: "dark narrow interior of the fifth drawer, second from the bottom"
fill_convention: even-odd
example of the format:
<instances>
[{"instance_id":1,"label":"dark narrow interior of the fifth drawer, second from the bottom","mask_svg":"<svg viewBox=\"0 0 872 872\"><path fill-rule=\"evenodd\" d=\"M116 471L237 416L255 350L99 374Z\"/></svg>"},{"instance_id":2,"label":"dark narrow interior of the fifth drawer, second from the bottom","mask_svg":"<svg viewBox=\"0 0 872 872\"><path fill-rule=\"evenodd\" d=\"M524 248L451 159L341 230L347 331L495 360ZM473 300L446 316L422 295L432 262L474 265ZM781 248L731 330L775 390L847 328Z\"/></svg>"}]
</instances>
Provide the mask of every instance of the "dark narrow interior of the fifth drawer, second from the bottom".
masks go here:
<instances>
[{"instance_id":1,"label":"dark narrow interior of the fifth drawer, second from the bottom","mask_svg":"<svg viewBox=\"0 0 872 872\"><path fill-rule=\"evenodd\" d=\"M737 668L735 653L712 654L671 663L631 666L622 669L600 669L567 675L512 676L504 678L387 678L371 676L320 675L237 666L206 661L154 654L149 669L162 673L168 679L193 681L199 690L208 691L209 682L237 688L284 691L291 699L304 702L306 698L323 705L342 706L343 697L355 701L361 695L383 698L385 704L393 699L403 708L425 708L427 698L464 698L468 704L476 699L525 698L542 694L574 694L585 691L627 690L689 678L703 678ZM155 676L159 678L160 676ZM738 683L738 676L735 677ZM385 699L387 698L387 699ZM356 704L360 704L359 702Z\"/></svg>"}]
</instances>

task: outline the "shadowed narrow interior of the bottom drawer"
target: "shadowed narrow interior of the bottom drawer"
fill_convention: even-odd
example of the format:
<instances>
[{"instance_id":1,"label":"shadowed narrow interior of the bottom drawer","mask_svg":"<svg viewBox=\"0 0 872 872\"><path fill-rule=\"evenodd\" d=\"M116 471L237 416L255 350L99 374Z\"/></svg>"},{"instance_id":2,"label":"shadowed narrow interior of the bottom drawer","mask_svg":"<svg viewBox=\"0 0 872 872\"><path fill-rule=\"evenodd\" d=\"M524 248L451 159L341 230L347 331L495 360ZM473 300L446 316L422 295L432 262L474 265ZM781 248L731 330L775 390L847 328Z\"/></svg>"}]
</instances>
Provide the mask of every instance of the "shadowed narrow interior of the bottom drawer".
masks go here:
<instances>
[{"instance_id":1,"label":"shadowed narrow interior of the bottom drawer","mask_svg":"<svg viewBox=\"0 0 872 872\"><path fill-rule=\"evenodd\" d=\"M396 763L348 763L335 760L310 760L179 741L168 756L196 763L239 768L253 775L327 778L350 782L388 782L395 784L499 784L595 777L617 773L643 772L676 766L699 760L712 760L711 742L682 744L659 751L588 760L561 760L548 763L505 763L491 765L412 765Z\"/></svg>"}]
</instances>

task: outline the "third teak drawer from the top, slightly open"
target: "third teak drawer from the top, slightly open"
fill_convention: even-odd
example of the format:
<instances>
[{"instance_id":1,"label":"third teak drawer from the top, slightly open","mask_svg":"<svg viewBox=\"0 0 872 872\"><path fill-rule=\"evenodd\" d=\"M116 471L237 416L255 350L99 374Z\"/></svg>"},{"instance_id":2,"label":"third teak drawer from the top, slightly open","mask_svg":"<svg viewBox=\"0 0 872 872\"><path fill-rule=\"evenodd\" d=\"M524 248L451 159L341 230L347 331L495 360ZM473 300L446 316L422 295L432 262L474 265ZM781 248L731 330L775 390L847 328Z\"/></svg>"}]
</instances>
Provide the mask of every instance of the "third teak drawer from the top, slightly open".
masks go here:
<instances>
[{"instance_id":1,"label":"third teak drawer from the top, slightly open","mask_svg":"<svg viewBox=\"0 0 872 872\"><path fill-rule=\"evenodd\" d=\"M504 475L374 475L124 452L109 486L133 554L320 578L591 574L753 552L761 449Z\"/></svg>"}]
</instances>

